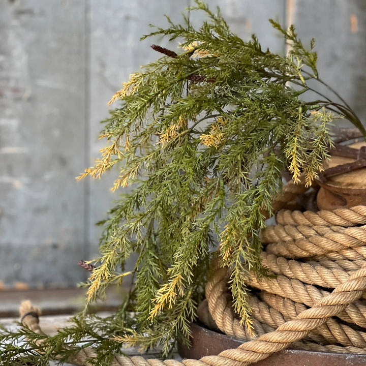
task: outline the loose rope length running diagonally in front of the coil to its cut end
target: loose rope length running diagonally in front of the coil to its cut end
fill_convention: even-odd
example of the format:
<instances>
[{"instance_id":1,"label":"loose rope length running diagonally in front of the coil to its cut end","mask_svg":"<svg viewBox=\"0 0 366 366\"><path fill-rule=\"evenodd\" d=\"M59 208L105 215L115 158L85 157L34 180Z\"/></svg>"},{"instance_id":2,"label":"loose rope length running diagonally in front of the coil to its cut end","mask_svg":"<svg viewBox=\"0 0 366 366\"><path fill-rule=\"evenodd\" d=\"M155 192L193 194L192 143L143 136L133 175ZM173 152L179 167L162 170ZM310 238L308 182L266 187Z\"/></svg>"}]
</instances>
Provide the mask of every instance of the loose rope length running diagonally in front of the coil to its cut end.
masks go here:
<instances>
[{"instance_id":1,"label":"loose rope length running diagonally in front of the coil to its cut end","mask_svg":"<svg viewBox=\"0 0 366 366\"><path fill-rule=\"evenodd\" d=\"M182 362L176 360L160 361L157 359L141 360L140 357L129 358L116 355L112 365L147 366L149 364L159 366L165 364L167 366L181 366L185 364L187 366L222 366L224 364L225 366L246 366L288 347L295 341L301 340L311 330L326 323L330 317L343 312L362 295L365 289L366 267L362 266L353 272L346 282L337 286L332 293L317 301L313 308L301 312L294 320L280 325L277 330L261 335L258 340L243 343L236 349L225 350L218 356L205 356L200 360L186 359ZM35 320L38 323L38 317L34 317L32 312L35 312L35 308L30 303L22 304L20 315L23 324L27 326L30 324L31 329L38 329L34 325ZM24 316L26 313L29 315ZM68 361L79 365L88 365L86 359L93 356L93 352L93 349L86 347Z\"/></svg>"}]
</instances>

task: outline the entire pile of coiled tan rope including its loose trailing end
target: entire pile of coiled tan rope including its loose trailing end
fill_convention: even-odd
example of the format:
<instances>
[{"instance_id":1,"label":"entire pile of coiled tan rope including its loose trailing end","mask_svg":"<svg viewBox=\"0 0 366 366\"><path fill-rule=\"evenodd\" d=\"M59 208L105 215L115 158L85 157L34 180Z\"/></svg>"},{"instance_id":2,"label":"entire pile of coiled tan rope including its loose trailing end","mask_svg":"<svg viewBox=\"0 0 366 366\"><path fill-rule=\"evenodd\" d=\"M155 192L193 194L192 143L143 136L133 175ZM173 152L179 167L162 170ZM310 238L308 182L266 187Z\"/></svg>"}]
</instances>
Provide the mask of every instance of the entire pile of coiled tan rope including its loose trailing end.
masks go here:
<instances>
[{"instance_id":1,"label":"entire pile of coiled tan rope including its loose trailing end","mask_svg":"<svg viewBox=\"0 0 366 366\"><path fill-rule=\"evenodd\" d=\"M304 191L304 185L290 182L275 208ZM200 320L247 342L217 356L181 362L115 355L112 366L245 366L288 346L366 354L366 206L280 210L276 220L277 225L261 233L262 263L276 276L259 279L251 273L247 281L260 290L249 298L257 338L240 325L232 308L228 270L215 260L206 300L199 308ZM42 333L38 315L29 301L22 303L23 324ZM95 355L93 348L86 347L68 362L89 365L87 359Z\"/></svg>"}]
</instances>

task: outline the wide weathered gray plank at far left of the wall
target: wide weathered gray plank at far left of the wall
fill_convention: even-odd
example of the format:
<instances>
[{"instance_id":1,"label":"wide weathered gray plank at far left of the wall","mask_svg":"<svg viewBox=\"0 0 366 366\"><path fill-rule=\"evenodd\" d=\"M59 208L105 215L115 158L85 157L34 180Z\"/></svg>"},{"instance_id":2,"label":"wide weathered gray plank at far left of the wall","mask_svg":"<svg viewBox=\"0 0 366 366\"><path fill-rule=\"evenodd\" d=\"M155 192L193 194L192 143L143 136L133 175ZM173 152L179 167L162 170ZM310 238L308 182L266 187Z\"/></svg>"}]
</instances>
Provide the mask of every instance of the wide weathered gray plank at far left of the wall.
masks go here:
<instances>
[{"instance_id":1,"label":"wide weathered gray plank at far left of the wall","mask_svg":"<svg viewBox=\"0 0 366 366\"><path fill-rule=\"evenodd\" d=\"M0 280L75 285L82 270L84 1L0 2Z\"/></svg>"}]
</instances>

